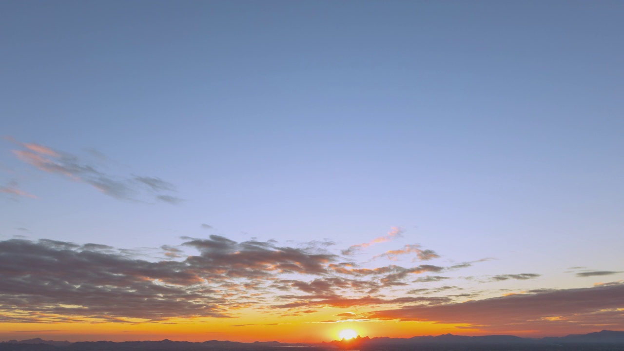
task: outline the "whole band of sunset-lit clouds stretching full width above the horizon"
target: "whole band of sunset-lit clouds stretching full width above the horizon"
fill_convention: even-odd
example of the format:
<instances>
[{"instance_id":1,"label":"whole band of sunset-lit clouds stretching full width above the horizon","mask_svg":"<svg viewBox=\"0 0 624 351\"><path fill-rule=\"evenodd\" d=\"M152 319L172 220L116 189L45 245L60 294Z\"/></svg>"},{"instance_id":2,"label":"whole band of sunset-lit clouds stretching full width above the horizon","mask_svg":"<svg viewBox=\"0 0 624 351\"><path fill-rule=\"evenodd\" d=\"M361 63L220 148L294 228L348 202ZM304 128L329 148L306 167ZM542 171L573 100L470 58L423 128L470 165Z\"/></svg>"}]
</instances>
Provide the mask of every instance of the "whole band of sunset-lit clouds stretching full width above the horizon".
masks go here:
<instances>
[{"instance_id":1,"label":"whole band of sunset-lit clouds stretching full width above the horizon","mask_svg":"<svg viewBox=\"0 0 624 351\"><path fill-rule=\"evenodd\" d=\"M423 287L450 278L419 276L451 272L457 265L363 267L318 243L301 248L219 235L185 239L182 245L163 246L167 259L159 261L107 245L1 241L0 322L231 318L247 308L309 315L322 307L372 311L360 319L468 324L483 330L563 328L600 320L617 326L624 317L624 285L619 283L460 303L478 295L457 294L454 290L462 288L454 286ZM186 249L197 254L185 255ZM539 274L502 274L490 282L535 277Z\"/></svg>"}]
</instances>

